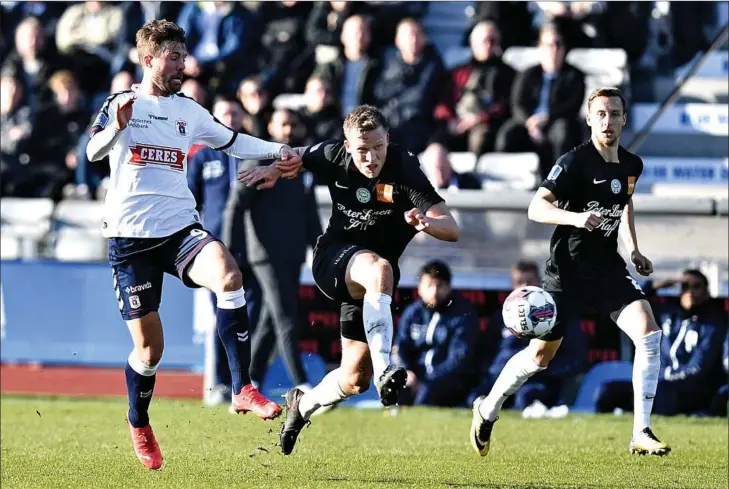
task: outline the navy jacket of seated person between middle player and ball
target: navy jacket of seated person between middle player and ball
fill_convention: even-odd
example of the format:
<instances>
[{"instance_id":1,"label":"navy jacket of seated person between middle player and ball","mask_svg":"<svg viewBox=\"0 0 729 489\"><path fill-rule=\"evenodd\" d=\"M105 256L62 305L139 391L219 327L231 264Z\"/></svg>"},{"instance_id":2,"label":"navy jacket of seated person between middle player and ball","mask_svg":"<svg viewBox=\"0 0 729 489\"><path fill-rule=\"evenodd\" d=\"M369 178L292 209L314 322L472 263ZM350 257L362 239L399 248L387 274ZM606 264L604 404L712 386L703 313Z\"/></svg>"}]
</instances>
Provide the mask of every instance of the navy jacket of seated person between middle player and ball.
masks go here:
<instances>
[{"instance_id":1,"label":"navy jacket of seated person between middle player and ball","mask_svg":"<svg viewBox=\"0 0 729 489\"><path fill-rule=\"evenodd\" d=\"M402 365L425 382L470 375L477 334L476 310L459 294L438 309L417 300L400 317L398 354Z\"/></svg>"}]
</instances>

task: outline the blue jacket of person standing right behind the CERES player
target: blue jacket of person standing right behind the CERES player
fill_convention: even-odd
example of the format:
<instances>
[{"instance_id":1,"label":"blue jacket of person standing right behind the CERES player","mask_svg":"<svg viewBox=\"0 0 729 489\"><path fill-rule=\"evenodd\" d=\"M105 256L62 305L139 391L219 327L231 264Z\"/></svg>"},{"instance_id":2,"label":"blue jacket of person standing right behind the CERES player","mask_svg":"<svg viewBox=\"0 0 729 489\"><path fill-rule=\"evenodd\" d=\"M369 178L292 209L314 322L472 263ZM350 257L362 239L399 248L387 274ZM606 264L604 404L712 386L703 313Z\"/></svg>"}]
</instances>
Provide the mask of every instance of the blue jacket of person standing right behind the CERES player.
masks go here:
<instances>
[{"instance_id":1,"label":"blue jacket of person standing right behind the CERES player","mask_svg":"<svg viewBox=\"0 0 729 489\"><path fill-rule=\"evenodd\" d=\"M187 185L202 213L203 226L218 239L225 204L237 175L238 159L212 148L201 149L187 162Z\"/></svg>"}]
</instances>

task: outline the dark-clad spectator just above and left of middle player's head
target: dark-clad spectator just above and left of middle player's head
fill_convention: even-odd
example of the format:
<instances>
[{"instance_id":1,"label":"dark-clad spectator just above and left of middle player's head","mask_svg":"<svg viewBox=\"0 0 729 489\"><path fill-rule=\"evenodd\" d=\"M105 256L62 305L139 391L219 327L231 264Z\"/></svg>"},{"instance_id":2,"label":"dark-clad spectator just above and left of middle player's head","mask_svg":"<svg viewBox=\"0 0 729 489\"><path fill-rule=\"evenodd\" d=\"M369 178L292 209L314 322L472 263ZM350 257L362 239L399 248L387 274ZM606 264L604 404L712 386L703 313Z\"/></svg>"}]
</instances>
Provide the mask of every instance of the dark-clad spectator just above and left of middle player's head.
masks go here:
<instances>
[{"instance_id":1,"label":"dark-clad spectator just above and left of middle player's head","mask_svg":"<svg viewBox=\"0 0 729 489\"><path fill-rule=\"evenodd\" d=\"M306 126L306 145L344 137L344 119L334 100L329 80L317 75L309 78L304 98L306 106L301 115Z\"/></svg>"}]
</instances>

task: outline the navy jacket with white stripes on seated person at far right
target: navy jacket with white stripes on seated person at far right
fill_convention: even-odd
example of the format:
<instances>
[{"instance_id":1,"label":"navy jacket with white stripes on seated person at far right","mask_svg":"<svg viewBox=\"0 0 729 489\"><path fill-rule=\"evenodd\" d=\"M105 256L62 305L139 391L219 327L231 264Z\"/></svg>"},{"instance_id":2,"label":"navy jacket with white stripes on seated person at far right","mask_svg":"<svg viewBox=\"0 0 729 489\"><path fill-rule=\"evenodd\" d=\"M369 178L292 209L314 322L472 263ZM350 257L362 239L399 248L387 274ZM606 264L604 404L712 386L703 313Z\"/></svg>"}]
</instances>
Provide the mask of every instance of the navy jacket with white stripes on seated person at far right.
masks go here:
<instances>
[{"instance_id":1,"label":"navy jacket with white stripes on seated person at far right","mask_svg":"<svg viewBox=\"0 0 729 489\"><path fill-rule=\"evenodd\" d=\"M724 311L708 302L691 311L667 310L659 318L663 330L661 378L668 382L706 382L706 388L715 385L721 377Z\"/></svg>"}]
</instances>

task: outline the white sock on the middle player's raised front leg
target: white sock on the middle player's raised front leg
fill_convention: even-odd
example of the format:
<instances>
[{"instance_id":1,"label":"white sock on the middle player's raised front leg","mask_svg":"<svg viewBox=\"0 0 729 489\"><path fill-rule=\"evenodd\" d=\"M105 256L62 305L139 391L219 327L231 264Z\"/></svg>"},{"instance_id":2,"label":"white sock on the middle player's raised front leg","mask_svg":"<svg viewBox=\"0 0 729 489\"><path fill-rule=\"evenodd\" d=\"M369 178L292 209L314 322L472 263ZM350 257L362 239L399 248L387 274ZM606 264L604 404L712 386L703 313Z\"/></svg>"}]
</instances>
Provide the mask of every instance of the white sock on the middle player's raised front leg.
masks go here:
<instances>
[{"instance_id":1,"label":"white sock on the middle player's raised front leg","mask_svg":"<svg viewBox=\"0 0 729 489\"><path fill-rule=\"evenodd\" d=\"M368 292L362 305L362 319L372 357L375 380L379 379L390 365L392 352L392 297L382 292Z\"/></svg>"}]
</instances>

